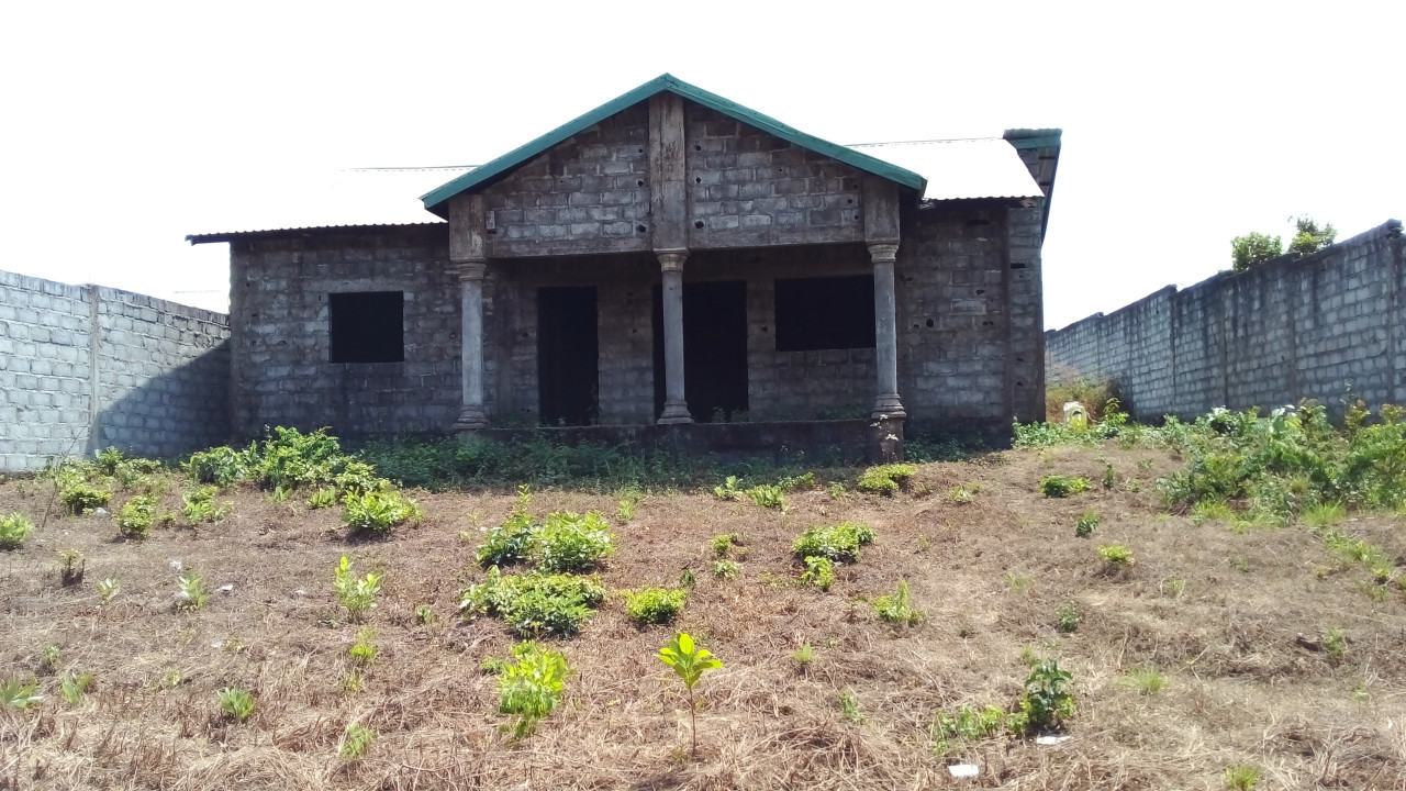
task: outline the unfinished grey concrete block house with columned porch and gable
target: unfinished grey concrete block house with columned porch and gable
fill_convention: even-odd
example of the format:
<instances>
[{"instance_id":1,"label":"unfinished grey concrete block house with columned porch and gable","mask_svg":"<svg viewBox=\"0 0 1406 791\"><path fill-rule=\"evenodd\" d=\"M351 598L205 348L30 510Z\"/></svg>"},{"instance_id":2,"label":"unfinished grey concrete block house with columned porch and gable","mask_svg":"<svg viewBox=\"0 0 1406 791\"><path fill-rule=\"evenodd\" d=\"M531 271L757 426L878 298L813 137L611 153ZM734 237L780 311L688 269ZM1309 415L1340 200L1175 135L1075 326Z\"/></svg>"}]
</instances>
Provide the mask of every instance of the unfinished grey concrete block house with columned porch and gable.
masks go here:
<instances>
[{"instance_id":1,"label":"unfinished grey concrete block house with columned porch and gable","mask_svg":"<svg viewBox=\"0 0 1406 791\"><path fill-rule=\"evenodd\" d=\"M425 194L427 222L190 239L231 245L242 434L1000 441L1045 414L1059 145L835 145L664 75Z\"/></svg>"}]
</instances>

